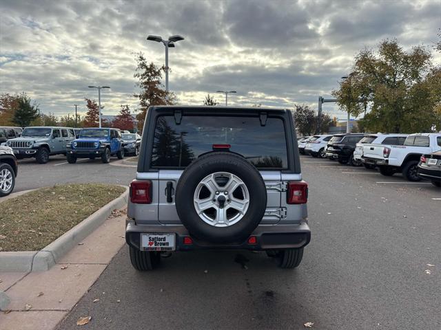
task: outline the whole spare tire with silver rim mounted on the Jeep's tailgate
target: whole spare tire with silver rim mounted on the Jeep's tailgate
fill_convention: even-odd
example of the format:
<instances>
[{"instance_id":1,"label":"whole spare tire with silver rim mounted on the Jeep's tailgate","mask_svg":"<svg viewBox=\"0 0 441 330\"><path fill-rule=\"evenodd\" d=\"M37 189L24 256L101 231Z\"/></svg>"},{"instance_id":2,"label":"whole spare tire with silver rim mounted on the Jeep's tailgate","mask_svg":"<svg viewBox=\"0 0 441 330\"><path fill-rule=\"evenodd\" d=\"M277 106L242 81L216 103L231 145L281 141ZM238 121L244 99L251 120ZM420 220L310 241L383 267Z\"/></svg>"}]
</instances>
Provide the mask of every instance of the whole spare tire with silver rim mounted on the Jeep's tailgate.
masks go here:
<instances>
[{"instance_id":1,"label":"whole spare tire with silver rim mounted on the Jeep's tailgate","mask_svg":"<svg viewBox=\"0 0 441 330\"><path fill-rule=\"evenodd\" d=\"M267 190L259 171L234 153L198 157L176 186L179 218L201 241L245 241L262 220L266 206Z\"/></svg>"}]
</instances>

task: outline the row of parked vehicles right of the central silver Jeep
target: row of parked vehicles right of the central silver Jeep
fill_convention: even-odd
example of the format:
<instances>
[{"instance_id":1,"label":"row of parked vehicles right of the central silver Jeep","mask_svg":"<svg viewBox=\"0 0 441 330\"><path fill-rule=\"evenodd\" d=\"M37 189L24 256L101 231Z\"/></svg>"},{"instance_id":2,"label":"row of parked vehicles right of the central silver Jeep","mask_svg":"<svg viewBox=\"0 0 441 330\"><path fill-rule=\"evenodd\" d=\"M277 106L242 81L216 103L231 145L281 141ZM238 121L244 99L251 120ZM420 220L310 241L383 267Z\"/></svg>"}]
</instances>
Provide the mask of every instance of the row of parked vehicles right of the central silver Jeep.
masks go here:
<instances>
[{"instance_id":1,"label":"row of parked vehicles right of the central silver Jeep","mask_svg":"<svg viewBox=\"0 0 441 330\"><path fill-rule=\"evenodd\" d=\"M340 164L378 168L409 181L427 179L441 185L441 133L347 133L298 137L300 153Z\"/></svg>"}]
</instances>

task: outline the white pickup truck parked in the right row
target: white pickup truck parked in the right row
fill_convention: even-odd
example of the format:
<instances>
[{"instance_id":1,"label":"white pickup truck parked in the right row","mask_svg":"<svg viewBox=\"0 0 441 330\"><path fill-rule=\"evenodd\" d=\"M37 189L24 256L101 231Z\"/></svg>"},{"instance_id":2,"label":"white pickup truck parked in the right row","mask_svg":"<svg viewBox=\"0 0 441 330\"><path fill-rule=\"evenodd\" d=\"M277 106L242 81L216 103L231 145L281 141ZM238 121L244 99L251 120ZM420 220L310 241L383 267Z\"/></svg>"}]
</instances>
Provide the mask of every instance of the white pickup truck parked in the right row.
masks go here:
<instances>
[{"instance_id":1,"label":"white pickup truck parked in the right row","mask_svg":"<svg viewBox=\"0 0 441 330\"><path fill-rule=\"evenodd\" d=\"M409 135L404 145L364 144L361 161L378 166L382 175L401 172L409 181L420 181L418 162L423 154L441 150L441 133L416 133Z\"/></svg>"}]
</instances>

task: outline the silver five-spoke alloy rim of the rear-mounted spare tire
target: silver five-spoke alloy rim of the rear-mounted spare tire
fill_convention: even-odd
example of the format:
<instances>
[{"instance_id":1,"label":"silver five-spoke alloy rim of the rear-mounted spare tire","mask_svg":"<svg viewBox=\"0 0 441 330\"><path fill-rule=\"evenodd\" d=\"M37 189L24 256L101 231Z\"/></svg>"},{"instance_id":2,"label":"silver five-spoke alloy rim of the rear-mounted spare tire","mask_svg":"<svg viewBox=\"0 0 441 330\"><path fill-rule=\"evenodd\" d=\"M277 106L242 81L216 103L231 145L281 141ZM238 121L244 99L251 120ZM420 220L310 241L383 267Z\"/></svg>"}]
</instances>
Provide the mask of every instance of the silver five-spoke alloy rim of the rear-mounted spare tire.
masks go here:
<instances>
[{"instance_id":1,"label":"silver five-spoke alloy rim of the rear-mounted spare tire","mask_svg":"<svg viewBox=\"0 0 441 330\"><path fill-rule=\"evenodd\" d=\"M216 180L225 181L218 186ZM208 190L208 191L206 191ZM207 192L209 195L207 197ZM238 223L248 210L247 186L236 175L216 172L204 177L194 192L194 208L205 223L214 227L227 227Z\"/></svg>"}]
</instances>

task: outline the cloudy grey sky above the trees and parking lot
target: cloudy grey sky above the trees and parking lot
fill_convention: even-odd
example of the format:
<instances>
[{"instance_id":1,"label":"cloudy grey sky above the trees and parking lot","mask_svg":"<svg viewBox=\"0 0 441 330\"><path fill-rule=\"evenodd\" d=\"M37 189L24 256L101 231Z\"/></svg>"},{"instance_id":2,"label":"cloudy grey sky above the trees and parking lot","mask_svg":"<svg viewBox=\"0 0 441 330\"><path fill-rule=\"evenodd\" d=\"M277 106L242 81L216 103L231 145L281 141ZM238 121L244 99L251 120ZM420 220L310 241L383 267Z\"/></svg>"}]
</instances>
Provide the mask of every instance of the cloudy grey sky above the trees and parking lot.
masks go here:
<instances>
[{"instance_id":1,"label":"cloudy grey sky above the trees and parking lot","mask_svg":"<svg viewBox=\"0 0 441 330\"><path fill-rule=\"evenodd\" d=\"M181 104L234 89L231 105L316 108L363 47L396 37L404 48L432 48L439 28L441 0L2 0L0 93L25 91L41 111L65 115L72 104L85 111L84 98L97 98L88 85L109 85L103 114L120 104L134 109L134 53L161 65L164 47L147 35L181 34L169 63ZM333 104L324 110L345 118Z\"/></svg>"}]
</instances>

